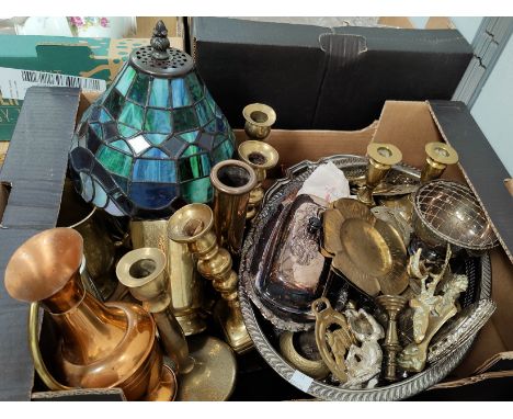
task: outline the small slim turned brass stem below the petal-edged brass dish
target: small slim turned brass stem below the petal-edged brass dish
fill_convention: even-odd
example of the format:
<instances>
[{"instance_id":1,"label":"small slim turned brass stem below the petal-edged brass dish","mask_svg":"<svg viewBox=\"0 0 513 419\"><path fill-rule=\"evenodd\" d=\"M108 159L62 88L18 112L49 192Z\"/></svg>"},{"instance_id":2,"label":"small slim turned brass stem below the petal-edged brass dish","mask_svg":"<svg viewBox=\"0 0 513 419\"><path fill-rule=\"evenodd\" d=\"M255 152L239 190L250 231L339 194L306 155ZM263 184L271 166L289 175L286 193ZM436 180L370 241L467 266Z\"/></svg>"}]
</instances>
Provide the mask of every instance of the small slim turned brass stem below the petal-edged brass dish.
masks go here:
<instances>
[{"instance_id":1,"label":"small slim turned brass stem below the petal-edged brass dish","mask_svg":"<svg viewBox=\"0 0 513 419\"><path fill-rule=\"evenodd\" d=\"M396 356L402 350L397 336L397 317L408 304L408 299L400 295L380 295L376 298L376 303L387 312L388 316L387 333L383 344L386 356L385 380L395 382L397 381Z\"/></svg>"}]
</instances>

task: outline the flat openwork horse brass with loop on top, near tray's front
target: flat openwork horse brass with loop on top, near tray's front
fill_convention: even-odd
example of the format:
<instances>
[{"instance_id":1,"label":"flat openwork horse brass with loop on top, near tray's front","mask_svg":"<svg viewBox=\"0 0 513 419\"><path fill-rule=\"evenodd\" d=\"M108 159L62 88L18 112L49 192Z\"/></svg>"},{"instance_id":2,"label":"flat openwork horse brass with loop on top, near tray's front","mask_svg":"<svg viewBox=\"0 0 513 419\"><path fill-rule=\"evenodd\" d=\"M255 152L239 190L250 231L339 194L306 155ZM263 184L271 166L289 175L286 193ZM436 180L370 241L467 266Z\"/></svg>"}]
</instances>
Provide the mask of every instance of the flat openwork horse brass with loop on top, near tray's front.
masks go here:
<instances>
[{"instance_id":1,"label":"flat openwork horse brass with loop on top, near tray's front","mask_svg":"<svg viewBox=\"0 0 513 419\"><path fill-rule=\"evenodd\" d=\"M356 339L349 328L345 316L331 308L328 298L321 297L311 304L316 316L316 342L326 365L340 383L347 381L345 355Z\"/></svg>"}]
</instances>

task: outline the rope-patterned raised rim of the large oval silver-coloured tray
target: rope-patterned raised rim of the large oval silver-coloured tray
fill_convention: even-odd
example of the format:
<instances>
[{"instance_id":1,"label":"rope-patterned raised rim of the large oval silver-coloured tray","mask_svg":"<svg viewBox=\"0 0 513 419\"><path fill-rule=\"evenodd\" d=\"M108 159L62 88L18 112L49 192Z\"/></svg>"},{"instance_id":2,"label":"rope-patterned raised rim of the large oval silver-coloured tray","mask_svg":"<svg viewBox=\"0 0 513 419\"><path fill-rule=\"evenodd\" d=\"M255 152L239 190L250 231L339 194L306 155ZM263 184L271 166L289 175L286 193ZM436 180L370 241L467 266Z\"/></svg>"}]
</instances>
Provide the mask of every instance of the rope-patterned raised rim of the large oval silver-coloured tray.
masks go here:
<instances>
[{"instance_id":1,"label":"rope-patterned raised rim of the large oval silver-coloured tray","mask_svg":"<svg viewBox=\"0 0 513 419\"><path fill-rule=\"evenodd\" d=\"M353 155L334 155L330 157L322 158L316 162L305 160L286 171L286 177L277 180L273 186L271 186L263 200L263 205L267 202L271 202L273 199L276 199L274 195L278 192L284 185L286 185L294 175L301 174L307 172L309 169L312 169L323 162L328 161L338 161L345 160L347 166L366 162L367 159L361 156ZM399 165L399 167L404 168L404 171L414 177L419 177L419 170L411 168L406 165ZM398 400L411 397L425 388L429 388L440 381L442 381L454 367L456 367L464 359L465 354L470 349L474 340L477 336L477 332L474 333L468 340L466 340L459 348L454 349L452 352L440 361L434 362L429 367L426 367L421 373L414 374L411 377L402 380L400 382L377 388L371 389L343 389L335 387L322 382L311 378L311 383L307 388L301 388L295 384L293 380L294 376L298 373L296 369L290 366L278 353L278 351L271 344L265 335L260 328L259 321L255 316L255 312L252 306L252 299L247 291L248 275L244 272L246 267L246 256L254 247L254 240L252 236L255 234L255 229L259 220L263 217L263 214L260 213L253 220L250 231L244 240L244 246L242 249L241 263L239 270L239 299L242 312L243 321L246 328L254 342L256 350L260 352L262 358L269 363L269 365L278 373L284 380L301 389L303 392L318 397L324 400ZM489 254L485 253L480 258L480 268L481 268L481 283L480 283L480 294L477 301L481 298L491 297L491 265ZM253 304L254 301L253 301ZM255 304L256 305L256 304ZM260 309L260 307L259 307ZM262 312L261 312L262 313ZM262 313L263 317L266 318L265 314ZM451 356L449 356L451 355Z\"/></svg>"}]
</instances>

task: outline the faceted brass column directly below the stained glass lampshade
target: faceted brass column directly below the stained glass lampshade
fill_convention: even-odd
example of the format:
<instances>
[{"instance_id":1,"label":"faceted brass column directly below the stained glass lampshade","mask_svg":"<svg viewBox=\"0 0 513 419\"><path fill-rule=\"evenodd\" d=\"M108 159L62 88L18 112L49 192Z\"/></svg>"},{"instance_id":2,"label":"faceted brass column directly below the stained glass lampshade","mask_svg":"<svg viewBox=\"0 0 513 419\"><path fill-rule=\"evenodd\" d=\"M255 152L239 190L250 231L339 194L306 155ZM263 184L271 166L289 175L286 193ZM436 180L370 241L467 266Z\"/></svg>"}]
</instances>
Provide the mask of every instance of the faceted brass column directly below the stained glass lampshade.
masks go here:
<instances>
[{"instance_id":1,"label":"faceted brass column directly below the stained glass lampshade","mask_svg":"<svg viewBox=\"0 0 513 419\"><path fill-rule=\"evenodd\" d=\"M197 335L206 329L202 313L204 280L187 246L170 240L167 230L167 219L130 222L132 245L134 249L153 247L166 253L172 312L185 336Z\"/></svg>"}]
</instances>

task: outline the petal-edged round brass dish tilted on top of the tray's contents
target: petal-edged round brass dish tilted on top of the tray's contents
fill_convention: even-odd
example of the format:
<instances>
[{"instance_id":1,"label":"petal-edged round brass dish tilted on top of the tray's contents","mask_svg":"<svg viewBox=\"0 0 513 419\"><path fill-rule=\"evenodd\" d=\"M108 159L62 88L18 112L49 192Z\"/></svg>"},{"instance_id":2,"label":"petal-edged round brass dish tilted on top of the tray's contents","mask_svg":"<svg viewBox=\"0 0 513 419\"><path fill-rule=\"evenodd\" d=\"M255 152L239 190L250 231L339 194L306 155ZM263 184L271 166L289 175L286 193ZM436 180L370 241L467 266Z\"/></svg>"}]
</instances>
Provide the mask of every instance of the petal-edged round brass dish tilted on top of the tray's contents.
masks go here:
<instances>
[{"instance_id":1,"label":"petal-edged round brass dish tilted on top of the tray's contents","mask_svg":"<svg viewBox=\"0 0 513 419\"><path fill-rule=\"evenodd\" d=\"M341 199L322 215L326 252L332 269L365 294L400 294L408 286L402 237L361 202Z\"/></svg>"}]
</instances>

